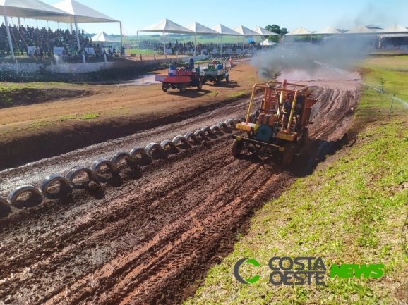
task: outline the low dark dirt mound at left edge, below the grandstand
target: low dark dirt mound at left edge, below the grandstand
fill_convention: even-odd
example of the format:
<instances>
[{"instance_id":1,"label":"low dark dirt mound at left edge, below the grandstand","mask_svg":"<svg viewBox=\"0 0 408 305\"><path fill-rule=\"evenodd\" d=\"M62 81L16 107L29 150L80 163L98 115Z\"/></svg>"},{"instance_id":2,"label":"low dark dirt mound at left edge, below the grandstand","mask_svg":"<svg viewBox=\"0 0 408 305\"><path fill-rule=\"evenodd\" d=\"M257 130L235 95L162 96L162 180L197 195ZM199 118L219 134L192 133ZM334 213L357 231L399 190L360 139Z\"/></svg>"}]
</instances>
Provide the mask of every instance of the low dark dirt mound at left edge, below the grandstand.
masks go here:
<instances>
[{"instance_id":1,"label":"low dark dirt mound at left edge, below the grandstand","mask_svg":"<svg viewBox=\"0 0 408 305\"><path fill-rule=\"evenodd\" d=\"M30 104L44 103L61 98L88 97L92 94L87 90L71 89L38 89L38 88L18 88L0 91L0 109L13 106L24 106Z\"/></svg>"}]
</instances>

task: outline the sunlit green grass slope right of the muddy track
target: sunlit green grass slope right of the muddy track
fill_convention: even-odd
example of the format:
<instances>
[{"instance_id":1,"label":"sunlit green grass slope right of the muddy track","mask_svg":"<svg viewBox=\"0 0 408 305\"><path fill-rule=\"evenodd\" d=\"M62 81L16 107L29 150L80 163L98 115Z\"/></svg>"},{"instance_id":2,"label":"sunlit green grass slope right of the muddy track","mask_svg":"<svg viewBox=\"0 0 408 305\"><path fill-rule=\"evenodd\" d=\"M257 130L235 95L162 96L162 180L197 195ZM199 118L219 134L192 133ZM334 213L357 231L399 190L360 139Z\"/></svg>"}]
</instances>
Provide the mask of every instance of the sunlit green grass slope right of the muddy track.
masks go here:
<instances>
[{"instance_id":1,"label":"sunlit green grass slope right of the muddy track","mask_svg":"<svg viewBox=\"0 0 408 305\"><path fill-rule=\"evenodd\" d=\"M399 71L384 74L371 63L364 68L364 81L380 84L383 77L390 92L407 96L406 85L395 85ZM389 104L389 94L366 87L353 126L367 127L356 144L266 203L248 234L237 236L233 253L210 269L203 287L184 304L404 304L408 256L400 234L408 209L408 108L396 102L389 116ZM326 285L271 285L272 256L322 257ZM240 268L243 278L260 275L258 282L235 280L234 264L243 257L260 263ZM329 278L334 263L383 263L385 275Z\"/></svg>"}]
</instances>

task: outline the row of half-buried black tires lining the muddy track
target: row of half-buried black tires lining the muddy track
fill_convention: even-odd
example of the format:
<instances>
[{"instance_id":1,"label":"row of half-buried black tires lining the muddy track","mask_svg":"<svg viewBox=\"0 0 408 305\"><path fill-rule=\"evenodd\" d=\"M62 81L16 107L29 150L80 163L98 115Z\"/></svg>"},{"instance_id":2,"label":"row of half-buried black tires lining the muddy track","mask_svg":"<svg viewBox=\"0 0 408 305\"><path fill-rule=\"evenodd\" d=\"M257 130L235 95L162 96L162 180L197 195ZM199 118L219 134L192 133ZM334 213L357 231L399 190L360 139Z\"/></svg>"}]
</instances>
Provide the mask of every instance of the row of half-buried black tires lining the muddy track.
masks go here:
<instances>
[{"instance_id":1,"label":"row of half-buried black tires lining the muddy track","mask_svg":"<svg viewBox=\"0 0 408 305\"><path fill-rule=\"evenodd\" d=\"M251 113L253 117L253 113ZM126 162L131 162L134 158L140 156L140 158L148 158L151 161L151 156L153 151L158 149L159 151L163 152L165 149L176 149L176 146L180 143L188 144L190 141L200 141L199 137L205 137L206 134L215 134L216 132L220 132L222 129L226 129L229 127L235 128L236 124L245 120L246 117L242 118L235 118L235 119L228 119L224 122L220 122L217 125L213 125L211 127L204 126L200 130L196 130L196 132L186 132L183 135L177 135L171 141L165 139L160 144L159 143L149 143L144 149L142 147L135 147L129 153L125 151L119 151L112 158L98 158L95 162L92 163L90 168L86 168L85 166L75 166L68 171L66 176L63 175L48 175L44 180L42 180L40 187L34 187L32 185L23 185L14 189L7 197L7 199L0 197L0 207L3 206L13 206L16 204L18 197L25 192L30 192L31 194L35 194L37 197L52 197L52 194L47 192L47 189L54 185L56 182L59 182L60 189L64 187L64 190L68 193L73 192L73 187L76 187L73 180L78 176L80 173L86 173L90 181L97 180L97 173L99 172L102 166L107 166L112 173L118 173L118 163L120 161L126 160Z\"/></svg>"}]
</instances>

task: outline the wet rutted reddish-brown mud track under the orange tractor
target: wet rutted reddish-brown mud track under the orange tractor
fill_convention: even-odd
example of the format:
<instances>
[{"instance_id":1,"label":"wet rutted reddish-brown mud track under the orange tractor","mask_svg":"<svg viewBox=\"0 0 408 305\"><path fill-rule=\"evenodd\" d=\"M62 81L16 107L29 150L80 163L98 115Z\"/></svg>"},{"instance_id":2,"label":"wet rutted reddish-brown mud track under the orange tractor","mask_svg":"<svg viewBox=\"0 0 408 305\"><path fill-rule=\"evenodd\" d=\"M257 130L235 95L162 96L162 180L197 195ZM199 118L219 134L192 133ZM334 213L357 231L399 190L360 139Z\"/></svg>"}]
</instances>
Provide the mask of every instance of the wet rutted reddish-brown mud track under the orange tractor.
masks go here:
<instances>
[{"instance_id":1,"label":"wet rutted reddish-brown mud track under the orange tractor","mask_svg":"<svg viewBox=\"0 0 408 305\"><path fill-rule=\"evenodd\" d=\"M313 140L290 168L254 156L232 158L232 130L226 130L207 144L180 149L120 178L107 176L102 193L79 190L72 199L13 209L0 220L0 299L6 304L179 303L194 292L189 285L232 251L253 211L337 148L359 100L356 83L347 85L351 91L341 85L316 89L324 103L310 127ZM134 137L3 171L0 180L8 183L0 192L245 111L246 101L238 101Z\"/></svg>"}]
</instances>

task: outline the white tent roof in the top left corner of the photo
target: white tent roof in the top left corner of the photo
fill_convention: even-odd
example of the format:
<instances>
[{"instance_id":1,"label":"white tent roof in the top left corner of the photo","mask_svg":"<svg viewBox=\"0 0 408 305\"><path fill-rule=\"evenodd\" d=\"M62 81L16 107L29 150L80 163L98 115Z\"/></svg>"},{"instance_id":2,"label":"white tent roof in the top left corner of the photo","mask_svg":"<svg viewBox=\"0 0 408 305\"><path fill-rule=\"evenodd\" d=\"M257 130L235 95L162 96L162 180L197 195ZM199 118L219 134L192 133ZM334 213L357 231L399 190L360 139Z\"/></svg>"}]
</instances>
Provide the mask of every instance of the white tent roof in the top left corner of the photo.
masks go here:
<instances>
[{"instance_id":1,"label":"white tent roof in the top left corner of the photo","mask_svg":"<svg viewBox=\"0 0 408 305\"><path fill-rule=\"evenodd\" d=\"M49 16L64 16L66 13L38 0L0 0L0 12L10 17L49 19Z\"/></svg>"}]
</instances>

